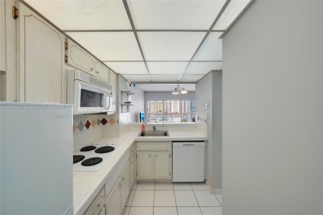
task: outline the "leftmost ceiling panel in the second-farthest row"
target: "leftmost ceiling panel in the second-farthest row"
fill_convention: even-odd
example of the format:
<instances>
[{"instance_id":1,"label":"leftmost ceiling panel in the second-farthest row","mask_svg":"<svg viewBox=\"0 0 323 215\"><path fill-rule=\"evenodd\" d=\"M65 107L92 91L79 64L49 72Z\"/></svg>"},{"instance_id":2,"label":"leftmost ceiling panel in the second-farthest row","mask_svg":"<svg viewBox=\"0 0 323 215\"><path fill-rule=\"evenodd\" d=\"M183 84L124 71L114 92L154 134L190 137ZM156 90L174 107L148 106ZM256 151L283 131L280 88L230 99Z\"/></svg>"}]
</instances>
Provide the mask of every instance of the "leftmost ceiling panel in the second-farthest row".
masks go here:
<instances>
[{"instance_id":1,"label":"leftmost ceiling panel in the second-farthest row","mask_svg":"<svg viewBox=\"0 0 323 215\"><path fill-rule=\"evenodd\" d=\"M144 62L103 62L103 63L119 74L130 74L130 75L148 74Z\"/></svg>"}]
</instances>

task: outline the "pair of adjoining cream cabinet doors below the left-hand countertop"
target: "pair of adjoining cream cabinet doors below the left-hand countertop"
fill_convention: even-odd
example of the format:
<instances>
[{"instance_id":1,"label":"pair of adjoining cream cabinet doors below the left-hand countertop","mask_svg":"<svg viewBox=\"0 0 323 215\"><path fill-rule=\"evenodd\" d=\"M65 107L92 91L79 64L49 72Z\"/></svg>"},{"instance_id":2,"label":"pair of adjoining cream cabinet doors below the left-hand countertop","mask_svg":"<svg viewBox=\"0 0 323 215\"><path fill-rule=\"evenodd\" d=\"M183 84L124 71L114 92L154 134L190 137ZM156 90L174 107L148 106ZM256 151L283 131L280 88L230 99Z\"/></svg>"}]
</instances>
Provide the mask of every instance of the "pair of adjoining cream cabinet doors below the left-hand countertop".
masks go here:
<instances>
[{"instance_id":1,"label":"pair of adjoining cream cabinet doors below the left-hand countertop","mask_svg":"<svg viewBox=\"0 0 323 215\"><path fill-rule=\"evenodd\" d=\"M107 197L104 207L105 214L120 215L126 205L130 193L130 170L129 162L122 171L117 183L112 189L110 195Z\"/></svg>"}]
</instances>

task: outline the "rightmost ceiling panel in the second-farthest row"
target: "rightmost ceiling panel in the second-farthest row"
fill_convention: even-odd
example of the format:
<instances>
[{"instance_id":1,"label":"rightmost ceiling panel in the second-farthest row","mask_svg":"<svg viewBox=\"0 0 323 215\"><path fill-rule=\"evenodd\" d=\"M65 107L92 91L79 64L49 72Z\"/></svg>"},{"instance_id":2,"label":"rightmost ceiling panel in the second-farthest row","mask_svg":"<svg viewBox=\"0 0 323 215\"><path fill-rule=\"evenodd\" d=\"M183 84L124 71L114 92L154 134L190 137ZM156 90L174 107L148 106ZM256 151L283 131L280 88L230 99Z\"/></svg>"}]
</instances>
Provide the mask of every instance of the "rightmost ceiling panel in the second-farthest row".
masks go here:
<instances>
[{"instance_id":1,"label":"rightmost ceiling panel in the second-farthest row","mask_svg":"<svg viewBox=\"0 0 323 215\"><path fill-rule=\"evenodd\" d=\"M211 70L222 70L222 62L191 62L184 75L205 75Z\"/></svg>"}]
</instances>

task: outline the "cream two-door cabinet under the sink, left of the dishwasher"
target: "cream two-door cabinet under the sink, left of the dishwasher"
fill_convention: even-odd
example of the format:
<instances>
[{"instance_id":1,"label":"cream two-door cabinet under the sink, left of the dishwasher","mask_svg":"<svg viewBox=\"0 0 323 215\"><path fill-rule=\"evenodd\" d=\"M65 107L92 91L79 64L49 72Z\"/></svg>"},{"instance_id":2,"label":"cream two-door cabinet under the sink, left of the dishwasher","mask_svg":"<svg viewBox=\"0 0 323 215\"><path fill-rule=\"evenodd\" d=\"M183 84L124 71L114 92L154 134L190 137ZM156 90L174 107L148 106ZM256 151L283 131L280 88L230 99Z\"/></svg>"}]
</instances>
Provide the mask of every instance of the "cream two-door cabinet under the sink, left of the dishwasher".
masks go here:
<instances>
[{"instance_id":1,"label":"cream two-door cabinet under the sink, left of the dishwasher","mask_svg":"<svg viewBox=\"0 0 323 215\"><path fill-rule=\"evenodd\" d=\"M170 142L137 142L137 179L172 179Z\"/></svg>"}]
</instances>

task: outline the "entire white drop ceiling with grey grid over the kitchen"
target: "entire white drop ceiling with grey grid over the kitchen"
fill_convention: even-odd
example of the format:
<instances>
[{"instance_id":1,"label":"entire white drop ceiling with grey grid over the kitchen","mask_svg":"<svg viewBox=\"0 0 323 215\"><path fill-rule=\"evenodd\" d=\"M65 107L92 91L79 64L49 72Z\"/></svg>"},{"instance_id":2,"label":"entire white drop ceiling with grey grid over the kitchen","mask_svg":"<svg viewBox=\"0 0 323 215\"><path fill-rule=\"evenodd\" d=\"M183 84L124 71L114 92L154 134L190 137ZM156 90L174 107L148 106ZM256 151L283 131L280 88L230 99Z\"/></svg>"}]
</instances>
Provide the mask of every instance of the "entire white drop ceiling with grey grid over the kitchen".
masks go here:
<instances>
[{"instance_id":1,"label":"entire white drop ceiling with grey grid over the kitchen","mask_svg":"<svg viewBox=\"0 0 323 215\"><path fill-rule=\"evenodd\" d=\"M196 82L222 70L222 39L250 0L25 0L129 81Z\"/></svg>"}]
</instances>

